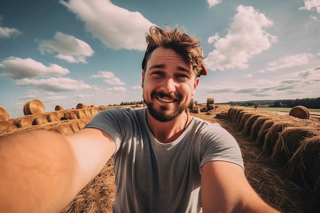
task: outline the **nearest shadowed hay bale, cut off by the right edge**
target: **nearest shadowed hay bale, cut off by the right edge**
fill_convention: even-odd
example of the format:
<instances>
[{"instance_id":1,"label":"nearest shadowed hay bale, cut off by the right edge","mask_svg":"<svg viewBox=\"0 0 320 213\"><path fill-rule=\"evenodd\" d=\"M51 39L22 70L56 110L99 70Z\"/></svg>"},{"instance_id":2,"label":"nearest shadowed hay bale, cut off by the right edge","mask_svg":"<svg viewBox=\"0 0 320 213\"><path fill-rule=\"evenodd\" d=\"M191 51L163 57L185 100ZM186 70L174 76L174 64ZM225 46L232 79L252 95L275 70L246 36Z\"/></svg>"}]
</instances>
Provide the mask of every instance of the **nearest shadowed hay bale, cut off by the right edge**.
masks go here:
<instances>
[{"instance_id":1,"label":"nearest shadowed hay bale, cut off by the right edge","mask_svg":"<svg viewBox=\"0 0 320 213\"><path fill-rule=\"evenodd\" d=\"M308 137L288 162L288 175L291 179L305 185L320 201L320 135Z\"/></svg>"}]
</instances>

